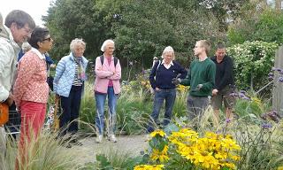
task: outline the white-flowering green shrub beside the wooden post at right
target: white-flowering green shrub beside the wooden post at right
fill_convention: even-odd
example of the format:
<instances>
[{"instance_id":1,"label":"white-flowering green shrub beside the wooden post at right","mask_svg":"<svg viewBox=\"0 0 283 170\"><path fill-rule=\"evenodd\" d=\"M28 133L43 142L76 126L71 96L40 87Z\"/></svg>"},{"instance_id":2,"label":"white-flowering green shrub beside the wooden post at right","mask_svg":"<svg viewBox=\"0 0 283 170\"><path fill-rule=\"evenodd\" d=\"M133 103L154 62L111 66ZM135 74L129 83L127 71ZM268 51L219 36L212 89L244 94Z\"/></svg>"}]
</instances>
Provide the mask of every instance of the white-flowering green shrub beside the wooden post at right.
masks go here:
<instances>
[{"instance_id":1,"label":"white-flowering green shrub beside the wooden post at right","mask_svg":"<svg viewBox=\"0 0 283 170\"><path fill-rule=\"evenodd\" d=\"M275 42L244 42L227 48L234 60L235 80L238 89L259 89L268 80L278 44Z\"/></svg>"}]
</instances>

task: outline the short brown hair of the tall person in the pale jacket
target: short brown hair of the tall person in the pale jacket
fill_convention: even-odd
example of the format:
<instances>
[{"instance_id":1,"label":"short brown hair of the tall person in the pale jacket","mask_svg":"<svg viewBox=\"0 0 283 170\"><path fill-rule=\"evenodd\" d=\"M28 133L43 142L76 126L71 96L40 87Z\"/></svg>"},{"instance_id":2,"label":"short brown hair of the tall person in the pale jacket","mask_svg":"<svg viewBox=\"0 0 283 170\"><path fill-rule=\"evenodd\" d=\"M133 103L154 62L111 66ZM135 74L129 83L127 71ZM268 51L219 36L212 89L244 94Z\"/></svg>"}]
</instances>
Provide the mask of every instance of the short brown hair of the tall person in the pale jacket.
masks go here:
<instances>
[{"instance_id":1,"label":"short brown hair of the tall person in the pale jacket","mask_svg":"<svg viewBox=\"0 0 283 170\"><path fill-rule=\"evenodd\" d=\"M26 24L31 29L35 27L34 19L27 12L21 10L11 11L5 19L5 26L11 27L13 22L15 22L19 28L25 27Z\"/></svg>"}]
</instances>

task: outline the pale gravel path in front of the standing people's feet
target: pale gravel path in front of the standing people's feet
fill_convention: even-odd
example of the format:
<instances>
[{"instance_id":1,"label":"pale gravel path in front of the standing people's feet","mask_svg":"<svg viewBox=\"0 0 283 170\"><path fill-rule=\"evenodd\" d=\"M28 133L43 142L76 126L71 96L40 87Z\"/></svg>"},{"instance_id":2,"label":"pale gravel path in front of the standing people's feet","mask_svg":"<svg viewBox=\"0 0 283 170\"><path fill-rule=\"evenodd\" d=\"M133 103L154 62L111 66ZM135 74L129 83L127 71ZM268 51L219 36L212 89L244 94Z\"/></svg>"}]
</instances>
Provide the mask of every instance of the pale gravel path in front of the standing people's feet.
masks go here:
<instances>
[{"instance_id":1,"label":"pale gravel path in front of the standing people's feet","mask_svg":"<svg viewBox=\"0 0 283 170\"><path fill-rule=\"evenodd\" d=\"M78 158L82 164L96 161L96 154L109 153L109 151L119 151L129 153L133 156L140 155L145 151L148 143L145 142L145 135L124 135L117 136L118 142L112 143L103 138L103 143L96 143L95 137L80 139L82 146L73 146L70 150L78 152Z\"/></svg>"}]
</instances>

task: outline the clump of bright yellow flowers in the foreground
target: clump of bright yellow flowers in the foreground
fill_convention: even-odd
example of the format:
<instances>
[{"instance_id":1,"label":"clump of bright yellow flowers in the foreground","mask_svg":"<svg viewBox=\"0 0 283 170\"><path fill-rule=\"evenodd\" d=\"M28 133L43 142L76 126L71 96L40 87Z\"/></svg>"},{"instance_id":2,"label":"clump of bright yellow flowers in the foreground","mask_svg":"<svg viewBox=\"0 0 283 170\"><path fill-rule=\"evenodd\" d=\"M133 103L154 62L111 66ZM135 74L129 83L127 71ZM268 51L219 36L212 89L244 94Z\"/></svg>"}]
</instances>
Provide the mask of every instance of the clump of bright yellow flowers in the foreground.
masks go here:
<instances>
[{"instance_id":1,"label":"clump of bright yellow flowers in the foreground","mask_svg":"<svg viewBox=\"0 0 283 170\"><path fill-rule=\"evenodd\" d=\"M241 147L231 135L207 132L200 137L189 128L171 135L156 130L150 135L149 165L162 164L164 169L235 169L240 160L237 151Z\"/></svg>"}]
</instances>

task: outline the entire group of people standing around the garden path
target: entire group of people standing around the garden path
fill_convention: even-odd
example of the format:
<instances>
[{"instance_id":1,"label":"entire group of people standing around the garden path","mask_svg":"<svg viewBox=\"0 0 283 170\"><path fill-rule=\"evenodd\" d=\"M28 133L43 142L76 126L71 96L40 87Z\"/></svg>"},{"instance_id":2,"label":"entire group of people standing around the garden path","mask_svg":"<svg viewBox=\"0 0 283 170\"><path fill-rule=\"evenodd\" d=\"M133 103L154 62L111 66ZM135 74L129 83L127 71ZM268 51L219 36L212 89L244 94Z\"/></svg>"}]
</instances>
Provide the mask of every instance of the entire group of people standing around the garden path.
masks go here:
<instances>
[{"instance_id":1,"label":"entire group of people standing around the garden path","mask_svg":"<svg viewBox=\"0 0 283 170\"><path fill-rule=\"evenodd\" d=\"M1 16L1 15L0 15ZM35 27L34 19L27 12L14 10L4 22L0 17L0 102L11 106L15 104L21 117L19 148L25 145L31 136L36 137L45 120L46 105L50 95L47 83L47 52L51 50L53 39L46 27ZM23 43L28 42L30 48L19 58ZM57 63L52 82L53 91L60 98L63 112L59 118L60 135L76 135L80 101L87 79L88 59L83 56L86 42L75 38L70 43L70 54ZM23 49L27 49L24 45ZM115 42L111 39L103 42L103 55L96 58L96 81L94 97L96 99L96 143L103 142L104 104L108 98L109 140L116 143L116 105L121 91L121 66L119 59L113 56ZM219 119L219 108L224 100L226 118L231 118L233 98L229 93L233 90L233 60L226 56L226 48L218 45L216 56L208 58L210 42L201 40L195 43L197 57L187 71L175 61L171 46L164 49L162 60L156 60L149 81L154 90L153 112L147 131L154 131L160 109L165 100L163 126L172 119L172 108L176 98L176 85L190 86L187 97L188 118L200 118L209 104ZM3 131L3 128L1 128ZM33 133L33 135L31 135ZM78 143L75 139L74 143Z\"/></svg>"}]
</instances>

